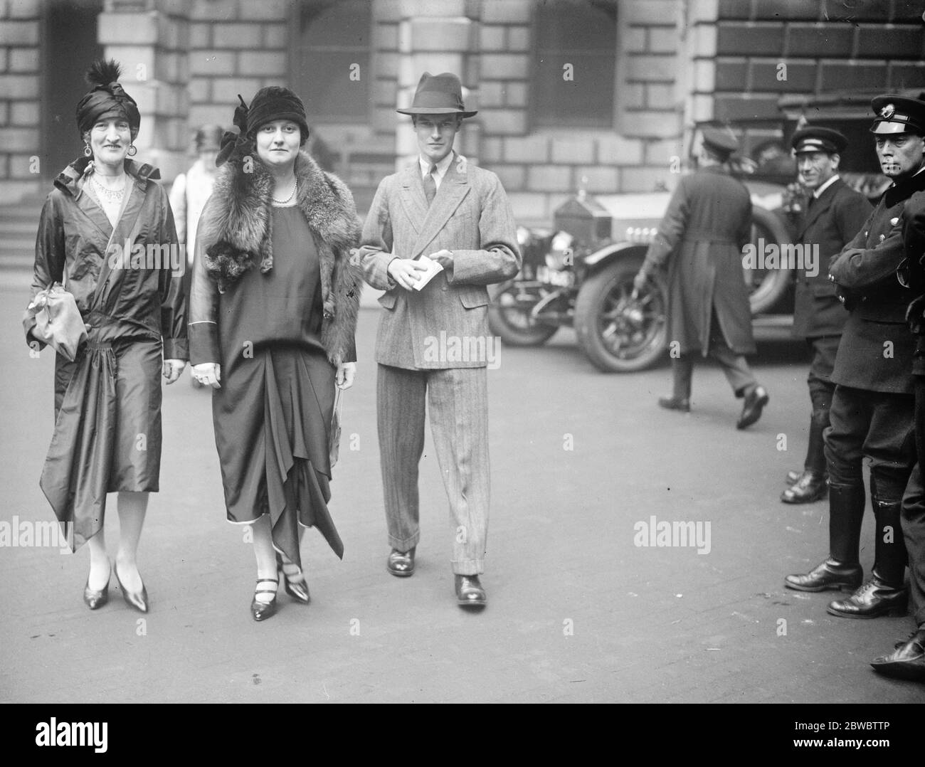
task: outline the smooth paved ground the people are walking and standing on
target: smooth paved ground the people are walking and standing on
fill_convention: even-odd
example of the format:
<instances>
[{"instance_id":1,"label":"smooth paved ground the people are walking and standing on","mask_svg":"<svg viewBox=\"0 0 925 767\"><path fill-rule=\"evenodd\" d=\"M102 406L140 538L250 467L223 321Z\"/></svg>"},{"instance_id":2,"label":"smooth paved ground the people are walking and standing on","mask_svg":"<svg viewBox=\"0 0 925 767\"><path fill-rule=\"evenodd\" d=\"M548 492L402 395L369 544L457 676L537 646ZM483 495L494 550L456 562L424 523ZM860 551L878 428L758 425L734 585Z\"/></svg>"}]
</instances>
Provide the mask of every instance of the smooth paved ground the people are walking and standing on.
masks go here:
<instances>
[{"instance_id":1,"label":"smooth paved ground the people are walking and standing on","mask_svg":"<svg viewBox=\"0 0 925 767\"><path fill-rule=\"evenodd\" d=\"M0 288L0 521L34 523L53 518L38 488L53 359L30 358L25 303L22 289ZM695 372L694 413L680 415L655 404L667 366L602 375L566 331L541 349L504 348L489 374L489 605L469 614L453 600L452 531L429 434L418 570L407 579L385 571L377 311L361 313L359 377L345 397L332 484L346 554L339 562L309 531L312 604L280 593L274 618L251 619L253 552L225 522L209 394L184 377L165 390L162 489L142 538L151 612L129 609L115 579L110 603L88 611L85 550L0 548L0 700L925 700L925 688L868 665L907 634L909 618L838 619L825 612L831 596L783 588L783 575L827 551L827 504L778 501L805 450L798 346L760 344L771 405L745 432L734 428L740 403L711 365ZM699 522L702 533L709 524L709 553L635 545L653 516ZM870 535L868 518L866 570Z\"/></svg>"}]
</instances>

